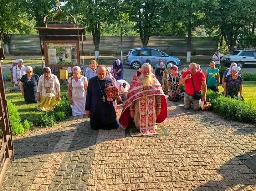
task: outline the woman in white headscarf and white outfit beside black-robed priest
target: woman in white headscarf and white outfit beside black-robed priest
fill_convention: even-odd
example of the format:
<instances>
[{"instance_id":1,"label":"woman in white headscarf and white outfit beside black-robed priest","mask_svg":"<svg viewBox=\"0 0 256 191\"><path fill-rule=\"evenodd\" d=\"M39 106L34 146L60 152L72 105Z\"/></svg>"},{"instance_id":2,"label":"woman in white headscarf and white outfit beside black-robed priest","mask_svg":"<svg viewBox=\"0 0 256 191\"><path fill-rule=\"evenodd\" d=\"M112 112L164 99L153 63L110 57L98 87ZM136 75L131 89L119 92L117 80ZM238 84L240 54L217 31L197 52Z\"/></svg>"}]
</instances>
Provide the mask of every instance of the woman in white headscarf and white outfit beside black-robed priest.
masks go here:
<instances>
[{"instance_id":1,"label":"woman in white headscarf and white outfit beside black-robed priest","mask_svg":"<svg viewBox=\"0 0 256 191\"><path fill-rule=\"evenodd\" d=\"M87 78L81 75L79 66L73 67L73 77L68 79L67 95L72 107L73 116L85 114L85 100L88 86Z\"/></svg>"}]
</instances>

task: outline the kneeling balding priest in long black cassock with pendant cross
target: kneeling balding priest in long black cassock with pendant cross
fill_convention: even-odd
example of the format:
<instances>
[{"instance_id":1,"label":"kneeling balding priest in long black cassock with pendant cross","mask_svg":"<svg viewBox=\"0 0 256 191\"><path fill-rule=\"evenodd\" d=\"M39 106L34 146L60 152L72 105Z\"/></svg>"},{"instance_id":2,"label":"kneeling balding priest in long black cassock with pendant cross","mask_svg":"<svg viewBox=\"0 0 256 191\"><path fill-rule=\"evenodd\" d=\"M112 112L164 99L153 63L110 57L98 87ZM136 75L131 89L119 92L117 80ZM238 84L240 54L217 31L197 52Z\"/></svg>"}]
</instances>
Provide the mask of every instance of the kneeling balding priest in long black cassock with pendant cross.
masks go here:
<instances>
[{"instance_id":1,"label":"kneeling balding priest in long black cassock with pendant cross","mask_svg":"<svg viewBox=\"0 0 256 191\"><path fill-rule=\"evenodd\" d=\"M92 129L117 129L116 112L113 101L107 98L105 90L108 86L114 86L113 80L106 76L107 69L104 65L97 67L97 76L89 79L85 114L91 119Z\"/></svg>"}]
</instances>

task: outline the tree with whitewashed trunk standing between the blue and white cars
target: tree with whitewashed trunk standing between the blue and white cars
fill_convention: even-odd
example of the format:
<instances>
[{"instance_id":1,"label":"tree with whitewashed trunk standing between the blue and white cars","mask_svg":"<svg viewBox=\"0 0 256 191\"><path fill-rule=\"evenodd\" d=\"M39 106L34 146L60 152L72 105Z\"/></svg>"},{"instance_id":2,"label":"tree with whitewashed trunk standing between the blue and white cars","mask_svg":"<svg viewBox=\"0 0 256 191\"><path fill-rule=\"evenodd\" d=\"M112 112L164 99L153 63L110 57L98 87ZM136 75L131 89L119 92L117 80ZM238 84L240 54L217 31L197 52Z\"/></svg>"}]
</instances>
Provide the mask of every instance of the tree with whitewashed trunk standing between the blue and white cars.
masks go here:
<instances>
[{"instance_id":1,"label":"tree with whitewashed trunk standing between the blue and white cars","mask_svg":"<svg viewBox=\"0 0 256 191\"><path fill-rule=\"evenodd\" d=\"M170 0L168 2L170 20L180 22L186 28L187 62L190 62L192 31L202 24L204 0Z\"/></svg>"}]
</instances>

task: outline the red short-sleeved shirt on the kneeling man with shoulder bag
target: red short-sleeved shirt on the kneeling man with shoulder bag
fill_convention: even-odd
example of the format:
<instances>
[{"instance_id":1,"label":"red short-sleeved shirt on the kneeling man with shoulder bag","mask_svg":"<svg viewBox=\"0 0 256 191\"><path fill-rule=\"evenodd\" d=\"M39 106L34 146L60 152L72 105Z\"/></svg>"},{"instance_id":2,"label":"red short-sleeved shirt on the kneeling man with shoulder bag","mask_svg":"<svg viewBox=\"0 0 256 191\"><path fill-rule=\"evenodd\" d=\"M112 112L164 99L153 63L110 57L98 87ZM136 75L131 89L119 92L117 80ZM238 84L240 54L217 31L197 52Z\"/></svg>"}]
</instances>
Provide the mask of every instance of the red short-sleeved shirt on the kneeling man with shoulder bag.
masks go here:
<instances>
[{"instance_id":1,"label":"red short-sleeved shirt on the kneeling man with shoulder bag","mask_svg":"<svg viewBox=\"0 0 256 191\"><path fill-rule=\"evenodd\" d=\"M186 71L184 74L182 74L182 78L185 78L186 75L190 74L190 71ZM204 73L202 73L201 71L197 71L195 75L192 76L193 77L193 81L194 81L194 85L195 85L195 90L196 91L201 91L202 89L202 81L205 81L205 75ZM189 94L189 95L193 95L194 94L194 88L193 88L193 84L192 84L192 78L189 78L185 81L185 91Z\"/></svg>"}]
</instances>

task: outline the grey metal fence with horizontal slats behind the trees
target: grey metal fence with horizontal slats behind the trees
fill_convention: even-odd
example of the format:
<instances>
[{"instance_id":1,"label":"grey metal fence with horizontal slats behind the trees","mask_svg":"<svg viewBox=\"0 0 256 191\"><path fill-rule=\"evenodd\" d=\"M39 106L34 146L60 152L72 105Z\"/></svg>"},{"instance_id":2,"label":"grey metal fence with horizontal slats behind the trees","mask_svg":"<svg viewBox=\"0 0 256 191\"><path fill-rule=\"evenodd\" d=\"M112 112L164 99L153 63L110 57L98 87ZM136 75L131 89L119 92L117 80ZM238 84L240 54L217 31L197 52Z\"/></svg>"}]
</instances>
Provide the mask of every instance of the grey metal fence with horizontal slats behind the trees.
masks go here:
<instances>
[{"instance_id":1,"label":"grey metal fence with horizontal slats behind the trees","mask_svg":"<svg viewBox=\"0 0 256 191\"><path fill-rule=\"evenodd\" d=\"M211 37L192 37L192 54L213 54L217 48L218 41ZM81 44L80 44L81 47ZM129 49L142 47L140 37L123 37L123 52L126 54ZM156 48L171 55L186 54L186 37L150 37L148 47ZM40 54L40 44L38 35L11 34L8 38L9 52ZM119 36L101 36L99 52L100 54L119 54ZM82 51L82 47L80 48ZM94 55L95 47L92 36L87 36L83 44L85 54Z\"/></svg>"}]
</instances>

